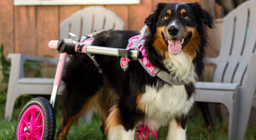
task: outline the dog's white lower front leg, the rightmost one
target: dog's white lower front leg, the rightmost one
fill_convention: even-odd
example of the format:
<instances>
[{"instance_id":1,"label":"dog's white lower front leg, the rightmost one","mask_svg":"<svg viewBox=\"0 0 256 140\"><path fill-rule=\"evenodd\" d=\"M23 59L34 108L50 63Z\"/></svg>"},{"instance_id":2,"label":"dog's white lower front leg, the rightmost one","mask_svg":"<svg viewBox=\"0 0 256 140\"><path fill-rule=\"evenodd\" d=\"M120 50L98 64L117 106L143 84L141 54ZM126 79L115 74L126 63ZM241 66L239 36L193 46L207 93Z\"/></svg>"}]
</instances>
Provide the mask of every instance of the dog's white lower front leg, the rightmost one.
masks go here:
<instances>
[{"instance_id":1,"label":"dog's white lower front leg, the rightmost one","mask_svg":"<svg viewBox=\"0 0 256 140\"><path fill-rule=\"evenodd\" d=\"M187 116L179 119L172 118L169 121L168 140L185 140L186 139Z\"/></svg>"}]
</instances>

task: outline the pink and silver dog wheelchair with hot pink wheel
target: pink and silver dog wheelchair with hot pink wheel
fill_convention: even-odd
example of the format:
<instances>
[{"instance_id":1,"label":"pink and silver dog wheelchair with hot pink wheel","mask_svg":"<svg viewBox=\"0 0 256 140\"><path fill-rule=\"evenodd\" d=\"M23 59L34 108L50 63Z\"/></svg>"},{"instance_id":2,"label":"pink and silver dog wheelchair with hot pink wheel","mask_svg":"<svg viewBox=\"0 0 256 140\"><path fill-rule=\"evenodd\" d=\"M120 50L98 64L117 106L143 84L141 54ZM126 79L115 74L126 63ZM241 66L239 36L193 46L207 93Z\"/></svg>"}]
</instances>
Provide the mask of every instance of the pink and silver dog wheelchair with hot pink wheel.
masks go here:
<instances>
[{"instance_id":1,"label":"pink and silver dog wheelchair with hot pink wheel","mask_svg":"<svg viewBox=\"0 0 256 140\"><path fill-rule=\"evenodd\" d=\"M71 33L70 35L75 36ZM56 118L53 108L57 97L57 92L61 84L67 54L80 55L81 53L86 53L89 57L91 57L90 54L102 54L130 59L141 58L141 52L135 49L126 50L92 46L92 40L90 40L93 39L92 37L93 36L82 36L80 42L78 41L77 37L76 40L61 39L51 40L49 42L48 46L52 49L57 49L60 53L50 101L44 97L36 97L29 100L24 105L17 119L14 139L54 139Z\"/></svg>"}]
</instances>

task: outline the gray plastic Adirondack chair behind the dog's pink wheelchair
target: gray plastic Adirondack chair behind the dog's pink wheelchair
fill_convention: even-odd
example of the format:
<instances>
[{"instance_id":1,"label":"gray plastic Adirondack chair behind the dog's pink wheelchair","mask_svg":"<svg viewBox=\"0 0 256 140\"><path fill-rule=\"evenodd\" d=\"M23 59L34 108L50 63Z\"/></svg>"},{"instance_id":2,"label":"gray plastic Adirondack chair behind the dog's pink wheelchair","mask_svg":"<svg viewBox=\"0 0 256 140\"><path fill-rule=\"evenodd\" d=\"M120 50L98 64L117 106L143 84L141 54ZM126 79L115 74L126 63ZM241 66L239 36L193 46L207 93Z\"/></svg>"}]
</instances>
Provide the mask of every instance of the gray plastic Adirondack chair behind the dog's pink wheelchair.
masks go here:
<instances>
[{"instance_id":1,"label":"gray plastic Adirondack chair behind the dog's pink wheelchair","mask_svg":"<svg viewBox=\"0 0 256 140\"><path fill-rule=\"evenodd\" d=\"M89 35L94 31L109 29L124 30L124 27L125 24L121 18L111 10L99 6L86 7L75 12L60 24L60 39L70 38L69 32L81 38L81 35ZM52 93L54 78L24 77L24 62L58 63L58 58L47 59L24 54L9 54L8 58L11 59L11 71L5 106L5 118L12 117L15 100L22 94L51 95Z\"/></svg>"}]
</instances>

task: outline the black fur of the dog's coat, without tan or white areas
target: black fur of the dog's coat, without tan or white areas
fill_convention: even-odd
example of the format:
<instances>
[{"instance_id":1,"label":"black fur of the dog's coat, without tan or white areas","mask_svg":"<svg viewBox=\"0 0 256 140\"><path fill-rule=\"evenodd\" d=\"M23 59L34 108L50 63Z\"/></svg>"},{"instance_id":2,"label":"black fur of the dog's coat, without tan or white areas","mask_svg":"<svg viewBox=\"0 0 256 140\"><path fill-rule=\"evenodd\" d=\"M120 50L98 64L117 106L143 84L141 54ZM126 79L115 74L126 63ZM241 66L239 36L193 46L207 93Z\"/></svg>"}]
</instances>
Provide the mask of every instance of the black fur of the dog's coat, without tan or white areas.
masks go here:
<instances>
[{"instance_id":1,"label":"black fur of the dog's coat, without tan or white areas","mask_svg":"<svg viewBox=\"0 0 256 140\"><path fill-rule=\"evenodd\" d=\"M165 56L159 55L153 44L156 39L156 29L170 24L170 21L161 21L163 14L168 9L175 13L176 5L177 3L159 3L154 13L145 19L149 31L145 42L148 60L155 67L166 72L168 72L168 69L163 65ZM182 22L181 26L193 27L199 33L199 50L196 51L193 63L196 74L202 76L204 72L203 58L208 40L206 26L214 28L213 17L204 11L198 3L183 4L179 9L182 8L187 10L191 22L179 21ZM180 18L177 13L172 14L172 16L175 16L176 19ZM139 34L139 31L103 31L94 36L95 40L92 45L125 49L129 38ZM158 77L151 77L137 60L131 60L129 67L124 71L120 66L120 57L92 55L99 64L101 73L86 54L80 57L73 55L66 66L63 76L65 89L62 94L63 122L58 135L63 132L63 127L65 127L67 121L82 109L86 101L94 96L104 83L118 96L118 100L113 104L116 104L120 110L121 124L126 131L135 128L136 123L145 117L145 112L139 110L137 106L137 97L145 93L145 86L157 87L157 90L160 90L166 84ZM194 93L194 84L191 82L186 84L185 90L189 100ZM184 114L176 119L180 121L181 127L185 129L187 115Z\"/></svg>"}]
</instances>

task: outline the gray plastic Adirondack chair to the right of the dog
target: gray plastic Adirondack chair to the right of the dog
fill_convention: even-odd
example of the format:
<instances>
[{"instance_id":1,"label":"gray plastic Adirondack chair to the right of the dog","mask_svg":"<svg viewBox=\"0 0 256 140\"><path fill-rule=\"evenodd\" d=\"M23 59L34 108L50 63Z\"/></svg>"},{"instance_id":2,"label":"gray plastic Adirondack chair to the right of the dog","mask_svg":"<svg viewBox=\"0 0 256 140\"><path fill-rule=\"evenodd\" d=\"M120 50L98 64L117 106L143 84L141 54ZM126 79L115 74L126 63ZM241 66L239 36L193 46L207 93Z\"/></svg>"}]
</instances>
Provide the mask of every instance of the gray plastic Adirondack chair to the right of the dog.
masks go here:
<instances>
[{"instance_id":1,"label":"gray plastic Adirondack chair to the right of the dog","mask_svg":"<svg viewBox=\"0 0 256 140\"><path fill-rule=\"evenodd\" d=\"M243 139L256 92L256 0L223 19L223 36L213 82L196 83L196 101L222 103L229 110L229 138ZM255 102L255 100L254 100Z\"/></svg>"}]
</instances>

